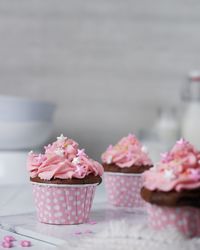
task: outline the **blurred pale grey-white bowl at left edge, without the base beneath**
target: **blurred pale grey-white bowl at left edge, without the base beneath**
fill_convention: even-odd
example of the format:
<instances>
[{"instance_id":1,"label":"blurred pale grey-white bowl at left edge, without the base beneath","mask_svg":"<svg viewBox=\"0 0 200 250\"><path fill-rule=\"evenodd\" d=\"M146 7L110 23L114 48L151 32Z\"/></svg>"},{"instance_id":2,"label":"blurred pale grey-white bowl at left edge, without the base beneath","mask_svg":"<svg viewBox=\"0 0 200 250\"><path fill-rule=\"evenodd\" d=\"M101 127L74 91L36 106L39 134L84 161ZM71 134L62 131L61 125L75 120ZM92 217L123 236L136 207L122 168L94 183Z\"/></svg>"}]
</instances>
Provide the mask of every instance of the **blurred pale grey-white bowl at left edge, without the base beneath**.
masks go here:
<instances>
[{"instance_id":1,"label":"blurred pale grey-white bowl at left edge, without the base beneath","mask_svg":"<svg viewBox=\"0 0 200 250\"><path fill-rule=\"evenodd\" d=\"M0 150L34 149L52 132L55 105L0 96Z\"/></svg>"}]
</instances>

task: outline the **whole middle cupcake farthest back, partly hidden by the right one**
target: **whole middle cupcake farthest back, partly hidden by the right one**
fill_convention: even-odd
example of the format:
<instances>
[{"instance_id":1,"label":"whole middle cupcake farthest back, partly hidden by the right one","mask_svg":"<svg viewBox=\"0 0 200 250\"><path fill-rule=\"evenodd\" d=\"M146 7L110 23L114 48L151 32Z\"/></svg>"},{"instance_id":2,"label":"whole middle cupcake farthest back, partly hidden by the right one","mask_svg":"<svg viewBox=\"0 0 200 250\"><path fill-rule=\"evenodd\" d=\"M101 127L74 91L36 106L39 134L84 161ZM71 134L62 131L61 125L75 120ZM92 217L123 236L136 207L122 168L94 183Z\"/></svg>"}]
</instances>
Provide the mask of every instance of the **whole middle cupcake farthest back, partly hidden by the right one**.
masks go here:
<instances>
[{"instance_id":1,"label":"whole middle cupcake farthest back, partly hidden by the right one","mask_svg":"<svg viewBox=\"0 0 200 250\"><path fill-rule=\"evenodd\" d=\"M140 197L141 174L152 167L147 150L129 134L102 154L105 186L111 205L124 208L143 207Z\"/></svg>"}]
</instances>

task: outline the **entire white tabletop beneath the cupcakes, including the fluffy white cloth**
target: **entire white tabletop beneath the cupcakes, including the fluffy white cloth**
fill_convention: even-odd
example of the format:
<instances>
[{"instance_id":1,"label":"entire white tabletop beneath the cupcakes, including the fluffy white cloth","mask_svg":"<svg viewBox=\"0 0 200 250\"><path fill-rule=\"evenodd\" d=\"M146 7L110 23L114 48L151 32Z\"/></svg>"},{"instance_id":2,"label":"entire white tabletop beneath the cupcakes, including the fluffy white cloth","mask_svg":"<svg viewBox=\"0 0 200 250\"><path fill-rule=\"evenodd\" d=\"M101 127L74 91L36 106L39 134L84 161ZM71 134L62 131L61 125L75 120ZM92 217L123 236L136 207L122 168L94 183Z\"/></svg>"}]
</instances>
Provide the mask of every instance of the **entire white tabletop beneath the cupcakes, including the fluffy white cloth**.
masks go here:
<instances>
[{"instance_id":1,"label":"entire white tabletop beneath the cupcakes, including the fluffy white cloth","mask_svg":"<svg viewBox=\"0 0 200 250\"><path fill-rule=\"evenodd\" d=\"M0 240L13 235L17 241L12 249L22 249L20 240L30 240L29 249L130 249L198 250L200 238L187 240L169 231L161 234L148 228L145 210L113 208L106 202L103 185L97 188L90 221L82 225L48 225L37 222L30 185L0 187ZM90 222L95 222L90 223ZM160 234L159 234L160 233ZM80 243L79 243L80 241ZM102 243L103 242L103 243ZM102 245L104 244L104 245Z\"/></svg>"}]
</instances>

